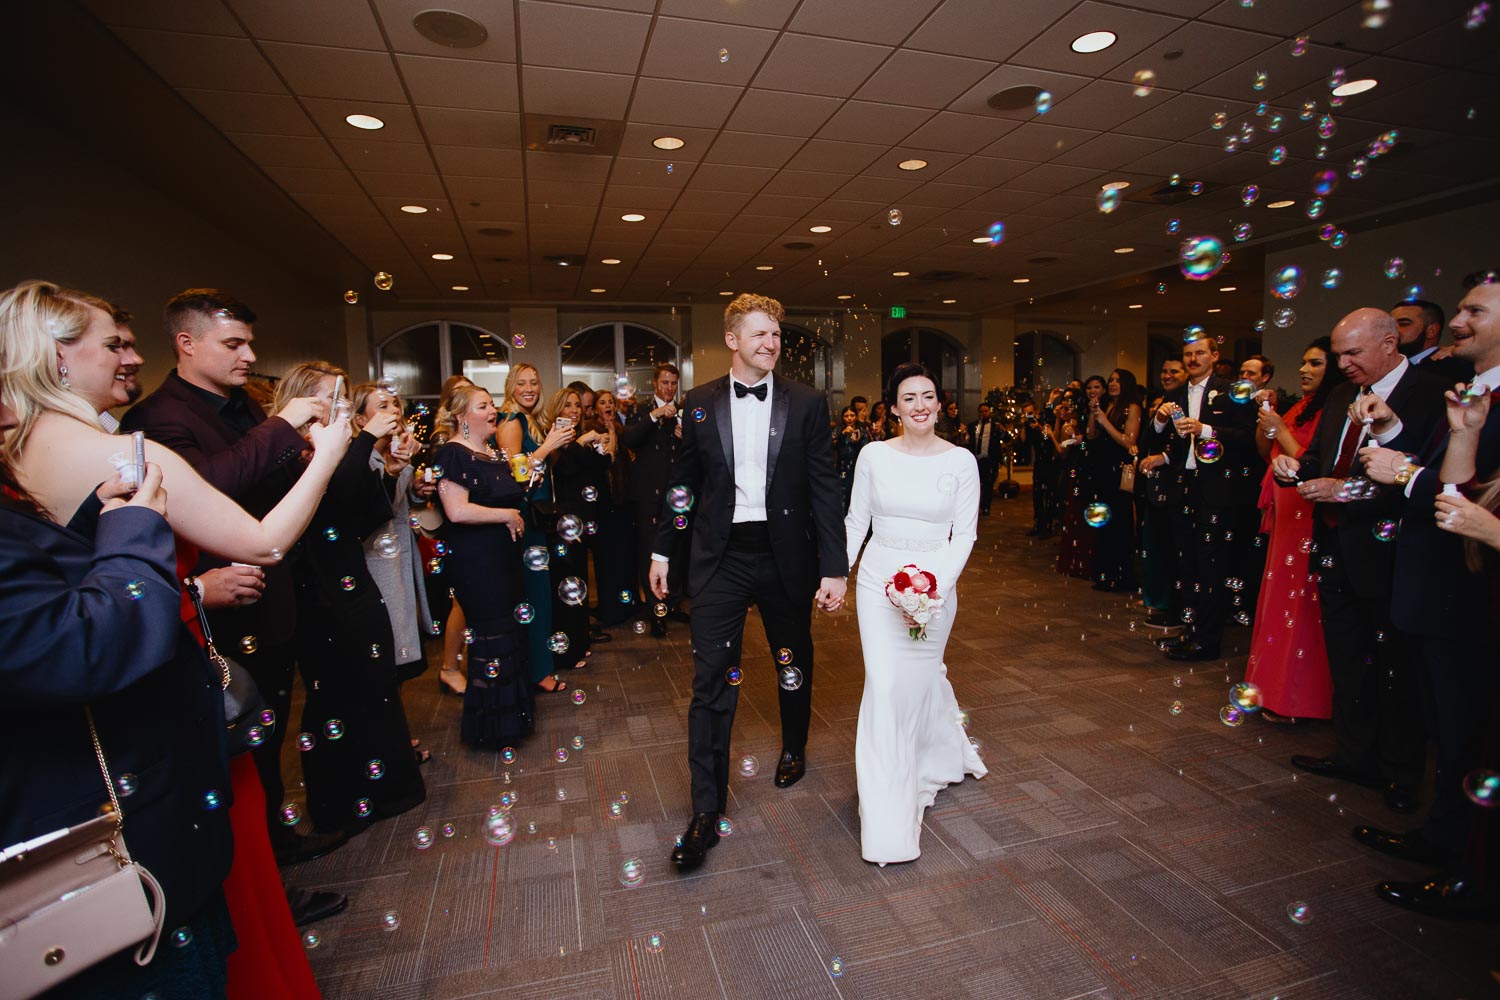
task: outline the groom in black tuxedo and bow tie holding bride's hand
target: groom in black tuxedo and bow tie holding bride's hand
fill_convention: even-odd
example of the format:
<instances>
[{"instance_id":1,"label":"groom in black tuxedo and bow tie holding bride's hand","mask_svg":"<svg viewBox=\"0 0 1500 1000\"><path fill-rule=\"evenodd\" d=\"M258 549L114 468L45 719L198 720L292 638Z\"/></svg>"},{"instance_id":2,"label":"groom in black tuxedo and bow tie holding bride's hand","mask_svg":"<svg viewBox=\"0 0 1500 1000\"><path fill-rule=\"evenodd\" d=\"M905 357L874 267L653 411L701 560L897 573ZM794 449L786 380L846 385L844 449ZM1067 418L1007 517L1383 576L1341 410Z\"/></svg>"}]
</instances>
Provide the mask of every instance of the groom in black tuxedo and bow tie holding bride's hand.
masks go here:
<instances>
[{"instance_id":1,"label":"groom in black tuxedo and bow tie holding bride's hand","mask_svg":"<svg viewBox=\"0 0 1500 1000\"><path fill-rule=\"evenodd\" d=\"M780 685L776 786L784 789L807 769L813 600L825 612L842 607L849 574L828 400L771 373L782 355L783 315L782 303L765 295L738 295L724 309L729 375L682 399L682 442L657 517L651 553L657 600L668 595L668 556L662 553L672 552L674 537L687 523L693 531L687 565L687 595L693 600L693 703L687 712L693 822L672 852L682 871L704 864L718 843L750 606L760 609L771 669L780 676L792 667L801 676L790 690ZM686 519L684 498L692 502Z\"/></svg>"}]
</instances>

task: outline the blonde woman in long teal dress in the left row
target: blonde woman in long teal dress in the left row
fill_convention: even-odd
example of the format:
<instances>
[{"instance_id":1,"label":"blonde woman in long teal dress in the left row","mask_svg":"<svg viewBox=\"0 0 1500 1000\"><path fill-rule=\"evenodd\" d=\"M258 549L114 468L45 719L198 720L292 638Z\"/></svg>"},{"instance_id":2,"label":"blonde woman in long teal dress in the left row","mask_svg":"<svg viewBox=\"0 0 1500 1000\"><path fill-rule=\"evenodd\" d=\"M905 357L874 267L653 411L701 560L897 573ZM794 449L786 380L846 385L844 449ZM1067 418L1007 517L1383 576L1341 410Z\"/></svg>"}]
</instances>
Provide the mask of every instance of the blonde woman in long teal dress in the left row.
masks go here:
<instances>
[{"instance_id":1,"label":"blonde woman in long teal dress in the left row","mask_svg":"<svg viewBox=\"0 0 1500 1000\"><path fill-rule=\"evenodd\" d=\"M495 442L507 460L525 457L520 477L534 481L526 492L526 547L552 550L550 535L556 534L558 510L552 480L546 475L548 457L574 438L573 426L554 426L542 402L542 375L520 361L506 376L506 400L500 405ZM526 471L530 469L530 472ZM532 618L526 628L531 679L540 691L562 691L567 682L552 673L552 600L554 589L548 568L528 567L525 571L526 603ZM472 667L470 669L472 675Z\"/></svg>"}]
</instances>

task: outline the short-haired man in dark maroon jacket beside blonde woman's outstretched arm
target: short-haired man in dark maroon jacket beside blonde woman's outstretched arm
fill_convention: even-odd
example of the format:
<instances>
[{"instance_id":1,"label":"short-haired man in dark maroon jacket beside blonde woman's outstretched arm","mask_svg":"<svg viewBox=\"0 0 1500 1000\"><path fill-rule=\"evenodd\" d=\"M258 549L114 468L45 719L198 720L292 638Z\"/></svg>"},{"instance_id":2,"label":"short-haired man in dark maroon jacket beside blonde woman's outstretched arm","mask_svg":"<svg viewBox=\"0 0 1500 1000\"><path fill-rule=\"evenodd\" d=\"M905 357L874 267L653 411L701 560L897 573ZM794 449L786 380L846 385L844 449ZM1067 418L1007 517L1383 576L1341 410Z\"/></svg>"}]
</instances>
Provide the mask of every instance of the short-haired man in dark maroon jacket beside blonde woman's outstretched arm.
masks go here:
<instances>
[{"instance_id":1,"label":"short-haired man in dark maroon jacket beside blonde woman's outstretched arm","mask_svg":"<svg viewBox=\"0 0 1500 1000\"><path fill-rule=\"evenodd\" d=\"M264 517L296 483L292 462L308 442L298 427L326 412L315 397L292 400L274 418L244 393L255 352L255 313L237 298L213 289L190 288L166 303L166 336L177 367L162 385L136 403L120 426L144 430L152 441L180 454L194 469L254 517ZM226 565L204 556L202 573ZM291 688L296 657L297 600L288 561L266 567L266 591L260 600L246 595L243 607L208 616L214 643L242 663L255 678L261 696L276 712L276 726L250 751L266 787L272 844L280 864L324 855L348 837L316 834L297 837L280 822L285 786L280 747L291 724Z\"/></svg>"}]
</instances>

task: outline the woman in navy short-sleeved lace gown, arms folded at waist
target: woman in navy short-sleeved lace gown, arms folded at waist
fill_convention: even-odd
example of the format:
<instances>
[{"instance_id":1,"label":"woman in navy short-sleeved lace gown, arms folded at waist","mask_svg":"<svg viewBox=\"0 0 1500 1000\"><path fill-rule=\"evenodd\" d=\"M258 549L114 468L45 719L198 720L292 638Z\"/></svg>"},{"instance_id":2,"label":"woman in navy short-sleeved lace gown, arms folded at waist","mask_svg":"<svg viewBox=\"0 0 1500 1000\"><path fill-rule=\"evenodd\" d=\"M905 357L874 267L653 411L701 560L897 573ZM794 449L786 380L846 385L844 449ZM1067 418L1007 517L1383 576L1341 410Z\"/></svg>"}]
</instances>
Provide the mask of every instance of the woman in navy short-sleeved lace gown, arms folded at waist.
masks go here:
<instances>
[{"instance_id":1,"label":"woman in navy short-sleeved lace gown, arms folded at waist","mask_svg":"<svg viewBox=\"0 0 1500 1000\"><path fill-rule=\"evenodd\" d=\"M495 433L495 400L478 385L459 385L444 411L447 444L442 466L442 540L448 546L442 574L466 615L468 684L459 736L474 748L504 747L536 726L520 550L526 525L520 514L525 487L510 463L488 442Z\"/></svg>"}]
</instances>

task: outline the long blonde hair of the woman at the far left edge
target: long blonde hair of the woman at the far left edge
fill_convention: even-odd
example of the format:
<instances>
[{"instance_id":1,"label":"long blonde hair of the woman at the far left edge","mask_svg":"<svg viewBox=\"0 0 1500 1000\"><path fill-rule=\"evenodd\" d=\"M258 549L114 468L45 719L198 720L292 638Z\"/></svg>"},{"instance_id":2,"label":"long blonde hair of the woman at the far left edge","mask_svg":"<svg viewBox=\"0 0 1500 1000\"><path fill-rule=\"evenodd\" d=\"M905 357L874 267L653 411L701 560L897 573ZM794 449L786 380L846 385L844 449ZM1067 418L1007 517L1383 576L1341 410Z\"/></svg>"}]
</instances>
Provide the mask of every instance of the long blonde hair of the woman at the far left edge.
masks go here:
<instances>
[{"instance_id":1,"label":"long blonde hair of the woman at the far left edge","mask_svg":"<svg viewBox=\"0 0 1500 1000\"><path fill-rule=\"evenodd\" d=\"M102 300L44 280L21 282L0 294L0 397L18 421L6 438L10 460L21 459L45 412L98 427L88 400L63 385L57 361L57 346L74 343L93 322L93 301Z\"/></svg>"}]
</instances>

